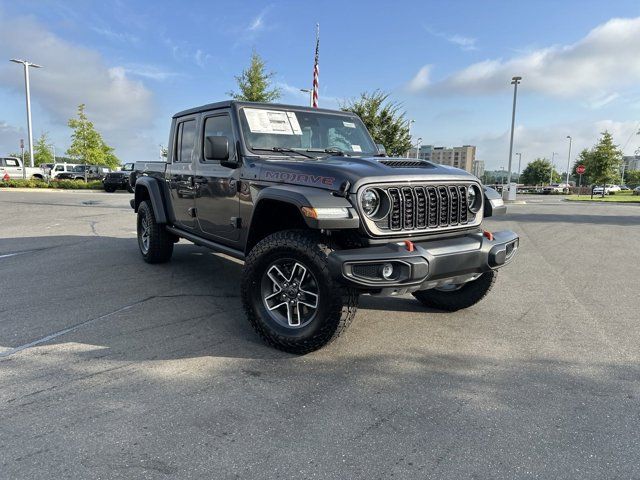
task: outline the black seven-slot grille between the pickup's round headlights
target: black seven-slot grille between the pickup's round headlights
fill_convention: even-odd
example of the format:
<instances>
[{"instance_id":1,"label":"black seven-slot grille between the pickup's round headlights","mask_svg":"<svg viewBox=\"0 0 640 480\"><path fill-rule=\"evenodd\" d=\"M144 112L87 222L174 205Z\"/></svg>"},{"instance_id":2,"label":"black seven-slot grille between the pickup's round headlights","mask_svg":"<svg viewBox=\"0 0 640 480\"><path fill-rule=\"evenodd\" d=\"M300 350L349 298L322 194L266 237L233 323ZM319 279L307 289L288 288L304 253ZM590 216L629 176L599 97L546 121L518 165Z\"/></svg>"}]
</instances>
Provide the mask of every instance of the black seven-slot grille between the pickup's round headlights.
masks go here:
<instances>
[{"instance_id":1,"label":"black seven-slot grille between the pickup's round headlights","mask_svg":"<svg viewBox=\"0 0 640 480\"><path fill-rule=\"evenodd\" d=\"M429 230L465 226L475 216L467 208L466 185L379 187L391 201L389 215L375 222L385 231Z\"/></svg>"}]
</instances>

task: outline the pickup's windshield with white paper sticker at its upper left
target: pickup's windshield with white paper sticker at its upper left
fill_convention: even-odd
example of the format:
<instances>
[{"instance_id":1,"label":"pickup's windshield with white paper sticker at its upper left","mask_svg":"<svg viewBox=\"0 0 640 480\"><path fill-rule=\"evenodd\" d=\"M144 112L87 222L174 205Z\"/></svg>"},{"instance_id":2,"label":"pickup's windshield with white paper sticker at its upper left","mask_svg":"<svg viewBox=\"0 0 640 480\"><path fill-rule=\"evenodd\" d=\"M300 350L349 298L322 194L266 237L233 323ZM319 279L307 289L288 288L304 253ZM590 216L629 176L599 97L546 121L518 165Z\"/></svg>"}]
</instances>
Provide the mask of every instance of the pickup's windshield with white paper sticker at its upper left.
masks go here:
<instances>
[{"instance_id":1,"label":"pickup's windshield with white paper sticker at its upper left","mask_svg":"<svg viewBox=\"0 0 640 480\"><path fill-rule=\"evenodd\" d=\"M375 155L377 148L355 115L309 110L242 108L240 121L249 149L293 150L321 155Z\"/></svg>"}]
</instances>

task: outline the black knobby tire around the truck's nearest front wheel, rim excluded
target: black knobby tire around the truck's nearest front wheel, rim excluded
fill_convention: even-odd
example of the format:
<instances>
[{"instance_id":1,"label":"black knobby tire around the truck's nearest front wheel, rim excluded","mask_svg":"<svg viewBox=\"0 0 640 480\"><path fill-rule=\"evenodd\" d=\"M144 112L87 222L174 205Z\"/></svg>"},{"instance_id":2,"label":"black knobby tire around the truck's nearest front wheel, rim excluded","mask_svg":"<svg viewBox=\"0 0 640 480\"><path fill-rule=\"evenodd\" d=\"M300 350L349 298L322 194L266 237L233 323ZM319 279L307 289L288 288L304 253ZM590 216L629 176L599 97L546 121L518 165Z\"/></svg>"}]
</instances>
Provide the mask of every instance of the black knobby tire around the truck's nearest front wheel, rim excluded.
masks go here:
<instances>
[{"instance_id":1,"label":"black knobby tire around the truck's nearest front wheel, rim excluded","mask_svg":"<svg viewBox=\"0 0 640 480\"><path fill-rule=\"evenodd\" d=\"M331 277L329 253L331 249L319 233L304 230L276 232L251 249L241 281L242 305L252 327L267 344L285 352L305 354L327 345L349 326L357 311L358 293ZM301 262L317 279L318 308L306 326L282 326L264 306L261 281L272 262L279 258Z\"/></svg>"}]
</instances>

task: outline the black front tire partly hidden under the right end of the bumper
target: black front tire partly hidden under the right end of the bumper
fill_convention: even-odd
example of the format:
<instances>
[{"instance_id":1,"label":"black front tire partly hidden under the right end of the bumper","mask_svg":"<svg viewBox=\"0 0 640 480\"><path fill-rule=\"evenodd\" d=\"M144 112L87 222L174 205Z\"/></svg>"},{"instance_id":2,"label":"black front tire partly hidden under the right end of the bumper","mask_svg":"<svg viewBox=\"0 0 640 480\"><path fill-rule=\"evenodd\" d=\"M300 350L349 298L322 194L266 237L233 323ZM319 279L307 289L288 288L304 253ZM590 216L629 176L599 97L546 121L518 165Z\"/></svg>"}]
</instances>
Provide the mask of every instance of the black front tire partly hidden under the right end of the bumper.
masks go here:
<instances>
[{"instance_id":1,"label":"black front tire partly hidden under the right end of the bumper","mask_svg":"<svg viewBox=\"0 0 640 480\"><path fill-rule=\"evenodd\" d=\"M418 290L413 296L424 306L456 312L469 308L482 300L493 287L498 278L498 272L491 270L483 273L480 278L464 284L460 289L451 292L440 290Z\"/></svg>"}]
</instances>

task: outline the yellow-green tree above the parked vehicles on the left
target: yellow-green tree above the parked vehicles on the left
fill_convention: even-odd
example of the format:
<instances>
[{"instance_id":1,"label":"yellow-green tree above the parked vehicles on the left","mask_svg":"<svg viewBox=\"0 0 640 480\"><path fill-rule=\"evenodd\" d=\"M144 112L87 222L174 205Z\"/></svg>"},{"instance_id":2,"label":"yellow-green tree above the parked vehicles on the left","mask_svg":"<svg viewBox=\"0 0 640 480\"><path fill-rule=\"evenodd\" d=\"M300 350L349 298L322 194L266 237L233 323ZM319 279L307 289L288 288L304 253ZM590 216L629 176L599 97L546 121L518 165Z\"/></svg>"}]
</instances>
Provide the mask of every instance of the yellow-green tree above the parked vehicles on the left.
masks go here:
<instances>
[{"instance_id":1,"label":"yellow-green tree above the parked vehicles on the left","mask_svg":"<svg viewBox=\"0 0 640 480\"><path fill-rule=\"evenodd\" d=\"M71 145L67 149L74 161L85 165L105 165L117 168L120 161L113 153L113 148L108 146L102 136L93 126L84 113L84 103L78 106L78 118L71 118L67 125L73 130L71 133Z\"/></svg>"}]
</instances>

